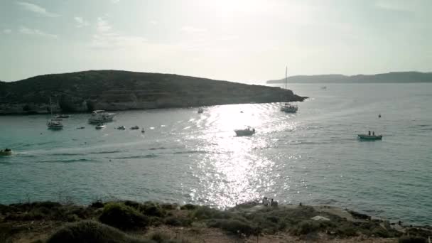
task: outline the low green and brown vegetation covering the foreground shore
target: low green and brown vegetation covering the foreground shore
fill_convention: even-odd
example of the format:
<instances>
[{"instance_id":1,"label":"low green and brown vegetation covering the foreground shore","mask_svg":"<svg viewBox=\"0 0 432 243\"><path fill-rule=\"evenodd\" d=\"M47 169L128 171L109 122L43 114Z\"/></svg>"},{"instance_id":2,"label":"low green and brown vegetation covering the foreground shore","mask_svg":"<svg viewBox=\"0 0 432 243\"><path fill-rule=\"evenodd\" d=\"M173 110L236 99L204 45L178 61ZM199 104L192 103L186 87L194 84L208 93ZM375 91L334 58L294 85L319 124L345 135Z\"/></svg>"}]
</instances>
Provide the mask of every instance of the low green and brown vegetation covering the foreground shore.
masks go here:
<instances>
[{"instance_id":1,"label":"low green and brown vegetation covering the foreground shore","mask_svg":"<svg viewBox=\"0 0 432 243\"><path fill-rule=\"evenodd\" d=\"M313 220L317 215L328 220ZM52 227L48 230L37 226L44 224ZM58 229L62 225L64 227ZM197 232L214 228L231 237L260 237L281 232L298 237L318 233L342 238L401 237L401 232L384 225L379 220L348 221L305 205L264 207L245 204L229 210L133 201L96 201L88 206L61 205L58 202L0 205L0 242L13 242L28 229L33 233L38 230L50 234L55 232L48 242L85 242L84 239L87 242L175 242L175 237L158 232L148 239L129 236L131 233L144 235L147 229L155 227L186 227ZM411 237L401 237L399 242L422 242L431 230L410 228L409 233ZM418 237L412 237L414 235Z\"/></svg>"}]
</instances>

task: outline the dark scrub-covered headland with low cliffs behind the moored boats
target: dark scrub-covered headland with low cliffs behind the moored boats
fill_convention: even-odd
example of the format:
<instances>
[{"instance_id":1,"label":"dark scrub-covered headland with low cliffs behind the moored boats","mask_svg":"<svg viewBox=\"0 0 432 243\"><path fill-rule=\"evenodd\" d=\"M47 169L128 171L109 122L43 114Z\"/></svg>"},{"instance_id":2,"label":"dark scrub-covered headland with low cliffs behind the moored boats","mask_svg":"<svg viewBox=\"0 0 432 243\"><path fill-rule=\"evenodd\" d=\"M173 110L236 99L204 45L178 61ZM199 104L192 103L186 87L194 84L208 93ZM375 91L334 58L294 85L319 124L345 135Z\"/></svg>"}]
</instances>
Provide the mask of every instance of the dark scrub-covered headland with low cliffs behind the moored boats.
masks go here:
<instances>
[{"instance_id":1,"label":"dark scrub-covered headland with low cliffs behind the moored boats","mask_svg":"<svg viewBox=\"0 0 432 243\"><path fill-rule=\"evenodd\" d=\"M0 82L0 114L43 114L50 107L55 112L91 112L304 99L280 87L119 70L40 75Z\"/></svg>"}]
</instances>

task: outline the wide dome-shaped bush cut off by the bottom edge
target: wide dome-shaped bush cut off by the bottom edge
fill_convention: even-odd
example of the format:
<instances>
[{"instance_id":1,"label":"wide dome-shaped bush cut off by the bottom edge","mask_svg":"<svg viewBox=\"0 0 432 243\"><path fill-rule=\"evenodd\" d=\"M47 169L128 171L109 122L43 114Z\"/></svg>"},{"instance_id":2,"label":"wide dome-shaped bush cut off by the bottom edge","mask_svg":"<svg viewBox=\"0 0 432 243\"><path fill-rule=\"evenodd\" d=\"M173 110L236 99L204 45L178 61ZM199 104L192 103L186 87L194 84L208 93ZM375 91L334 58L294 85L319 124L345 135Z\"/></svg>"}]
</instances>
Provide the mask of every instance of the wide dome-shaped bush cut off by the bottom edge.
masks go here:
<instances>
[{"instance_id":1,"label":"wide dome-shaped bush cut off by the bottom edge","mask_svg":"<svg viewBox=\"0 0 432 243\"><path fill-rule=\"evenodd\" d=\"M145 243L148 240L134 239L124 232L94 221L81 221L66 225L51 235L46 243Z\"/></svg>"}]
</instances>

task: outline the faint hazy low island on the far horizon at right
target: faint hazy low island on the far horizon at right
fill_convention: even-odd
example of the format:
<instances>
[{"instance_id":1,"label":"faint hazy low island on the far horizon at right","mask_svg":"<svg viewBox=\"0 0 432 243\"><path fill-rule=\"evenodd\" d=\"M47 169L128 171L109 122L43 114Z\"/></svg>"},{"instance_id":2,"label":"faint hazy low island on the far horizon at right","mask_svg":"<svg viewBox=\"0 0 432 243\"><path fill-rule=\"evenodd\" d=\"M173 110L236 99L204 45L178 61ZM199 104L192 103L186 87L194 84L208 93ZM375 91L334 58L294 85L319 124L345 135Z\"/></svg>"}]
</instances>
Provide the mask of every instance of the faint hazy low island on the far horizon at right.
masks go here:
<instances>
[{"instance_id":1,"label":"faint hazy low island on the far horizon at right","mask_svg":"<svg viewBox=\"0 0 432 243\"><path fill-rule=\"evenodd\" d=\"M388 72L376 75L296 75L288 77L288 83L365 83L365 82L432 82L432 72ZM285 83L285 78L269 80L268 84Z\"/></svg>"}]
</instances>

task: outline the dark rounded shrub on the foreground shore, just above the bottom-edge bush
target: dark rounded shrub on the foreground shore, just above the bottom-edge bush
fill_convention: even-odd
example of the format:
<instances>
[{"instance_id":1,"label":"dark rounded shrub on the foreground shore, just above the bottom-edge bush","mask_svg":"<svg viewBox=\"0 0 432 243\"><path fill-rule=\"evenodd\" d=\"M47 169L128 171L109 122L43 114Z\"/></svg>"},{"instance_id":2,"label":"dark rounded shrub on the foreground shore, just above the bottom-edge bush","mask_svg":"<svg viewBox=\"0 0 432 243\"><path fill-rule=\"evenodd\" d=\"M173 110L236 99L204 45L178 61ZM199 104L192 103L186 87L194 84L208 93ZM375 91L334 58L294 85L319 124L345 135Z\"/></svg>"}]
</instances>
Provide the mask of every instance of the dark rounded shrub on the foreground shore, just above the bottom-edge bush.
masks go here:
<instances>
[{"instance_id":1,"label":"dark rounded shrub on the foreground shore, just above the bottom-edge bush","mask_svg":"<svg viewBox=\"0 0 432 243\"><path fill-rule=\"evenodd\" d=\"M99 221L119 229L136 229L148 224L147 217L141 212L119 202L105 205Z\"/></svg>"}]
</instances>

